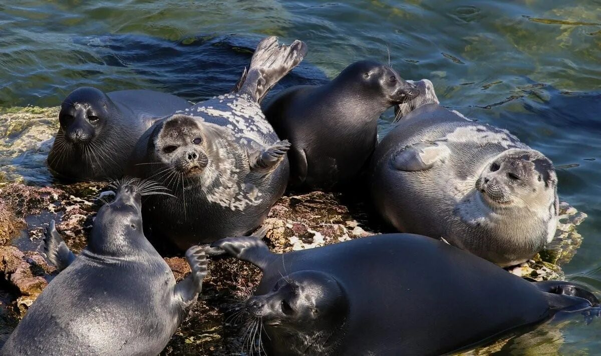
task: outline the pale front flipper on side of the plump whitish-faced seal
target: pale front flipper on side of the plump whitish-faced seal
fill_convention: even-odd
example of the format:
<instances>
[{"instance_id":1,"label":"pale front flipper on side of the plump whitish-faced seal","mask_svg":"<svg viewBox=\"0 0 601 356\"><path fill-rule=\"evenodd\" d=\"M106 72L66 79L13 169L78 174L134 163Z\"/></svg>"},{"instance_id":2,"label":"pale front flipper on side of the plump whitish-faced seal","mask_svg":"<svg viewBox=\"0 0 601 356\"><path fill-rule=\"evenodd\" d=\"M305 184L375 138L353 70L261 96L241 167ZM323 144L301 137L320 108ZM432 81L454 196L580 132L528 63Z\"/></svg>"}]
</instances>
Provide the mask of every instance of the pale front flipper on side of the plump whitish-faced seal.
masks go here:
<instances>
[{"instance_id":1,"label":"pale front flipper on side of the plump whitish-faced seal","mask_svg":"<svg viewBox=\"0 0 601 356\"><path fill-rule=\"evenodd\" d=\"M444 162L449 156L446 146L438 143L416 143L406 146L392 156L392 167L399 171L424 171L438 162Z\"/></svg>"}]
</instances>

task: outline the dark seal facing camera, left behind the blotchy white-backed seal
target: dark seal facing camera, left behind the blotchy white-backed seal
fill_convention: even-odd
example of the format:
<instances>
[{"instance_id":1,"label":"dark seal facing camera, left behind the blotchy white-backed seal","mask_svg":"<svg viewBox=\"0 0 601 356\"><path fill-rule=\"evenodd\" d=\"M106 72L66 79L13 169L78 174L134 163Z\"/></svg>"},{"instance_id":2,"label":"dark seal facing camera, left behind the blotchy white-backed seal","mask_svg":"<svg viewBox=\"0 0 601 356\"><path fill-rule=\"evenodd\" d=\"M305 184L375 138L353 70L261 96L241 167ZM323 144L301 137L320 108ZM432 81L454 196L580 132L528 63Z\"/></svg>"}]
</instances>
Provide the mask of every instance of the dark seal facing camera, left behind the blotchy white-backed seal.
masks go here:
<instances>
[{"instance_id":1,"label":"dark seal facing camera, left behind the blotchy white-backed seal","mask_svg":"<svg viewBox=\"0 0 601 356\"><path fill-rule=\"evenodd\" d=\"M77 88L61 105L48 167L66 180L120 179L148 127L190 106L188 100L157 91Z\"/></svg>"}]
</instances>

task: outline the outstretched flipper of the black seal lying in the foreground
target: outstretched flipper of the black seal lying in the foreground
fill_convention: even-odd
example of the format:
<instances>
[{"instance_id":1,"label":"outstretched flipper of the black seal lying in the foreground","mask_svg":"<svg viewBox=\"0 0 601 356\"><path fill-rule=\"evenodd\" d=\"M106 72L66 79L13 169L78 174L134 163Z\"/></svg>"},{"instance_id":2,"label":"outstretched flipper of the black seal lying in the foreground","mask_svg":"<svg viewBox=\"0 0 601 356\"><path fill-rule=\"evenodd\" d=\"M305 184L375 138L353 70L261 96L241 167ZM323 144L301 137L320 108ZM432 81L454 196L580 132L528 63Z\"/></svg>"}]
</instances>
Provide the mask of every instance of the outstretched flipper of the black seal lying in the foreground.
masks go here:
<instances>
[{"instance_id":1,"label":"outstretched flipper of the black seal lying in the foreground","mask_svg":"<svg viewBox=\"0 0 601 356\"><path fill-rule=\"evenodd\" d=\"M269 251L267 245L261 240L267 228L263 227L251 236L240 238L225 238L213 242L211 247L222 248L225 252L237 259L248 261L258 268L265 268L275 258L276 254Z\"/></svg>"}]
</instances>

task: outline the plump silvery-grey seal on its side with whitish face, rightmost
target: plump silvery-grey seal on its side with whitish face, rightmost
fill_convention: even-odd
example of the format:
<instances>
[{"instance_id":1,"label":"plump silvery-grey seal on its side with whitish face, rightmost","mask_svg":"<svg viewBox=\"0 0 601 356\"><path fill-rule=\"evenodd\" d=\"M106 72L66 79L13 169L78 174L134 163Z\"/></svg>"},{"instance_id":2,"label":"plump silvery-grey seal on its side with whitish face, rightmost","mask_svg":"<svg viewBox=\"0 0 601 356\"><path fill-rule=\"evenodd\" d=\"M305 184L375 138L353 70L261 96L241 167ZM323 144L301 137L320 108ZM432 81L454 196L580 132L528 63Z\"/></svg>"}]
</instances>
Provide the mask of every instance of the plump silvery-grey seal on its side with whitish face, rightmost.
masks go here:
<instances>
[{"instance_id":1,"label":"plump silvery-grey seal on its side with whitish face, rightmost","mask_svg":"<svg viewBox=\"0 0 601 356\"><path fill-rule=\"evenodd\" d=\"M507 130L427 104L406 115L371 161L380 215L401 232L444 238L498 265L553 239L557 175Z\"/></svg>"}]
</instances>

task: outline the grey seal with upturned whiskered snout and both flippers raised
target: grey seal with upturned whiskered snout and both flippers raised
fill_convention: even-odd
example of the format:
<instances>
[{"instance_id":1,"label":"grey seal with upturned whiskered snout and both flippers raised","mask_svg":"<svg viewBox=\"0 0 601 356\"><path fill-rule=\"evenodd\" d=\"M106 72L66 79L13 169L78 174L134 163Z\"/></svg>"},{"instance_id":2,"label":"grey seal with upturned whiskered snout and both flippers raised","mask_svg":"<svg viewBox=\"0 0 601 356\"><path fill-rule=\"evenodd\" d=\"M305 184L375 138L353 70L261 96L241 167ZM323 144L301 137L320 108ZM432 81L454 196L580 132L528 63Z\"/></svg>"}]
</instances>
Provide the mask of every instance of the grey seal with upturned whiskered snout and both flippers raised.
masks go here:
<instances>
[{"instance_id":1,"label":"grey seal with upturned whiskered snout and both flippers raised","mask_svg":"<svg viewBox=\"0 0 601 356\"><path fill-rule=\"evenodd\" d=\"M191 247L179 283L142 233L140 186L121 185L75 257L51 224L50 262L63 269L29 307L1 355L157 355L197 300L207 259Z\"/></svg>"}]
</instances>

